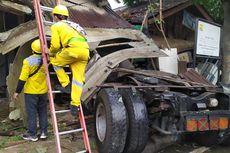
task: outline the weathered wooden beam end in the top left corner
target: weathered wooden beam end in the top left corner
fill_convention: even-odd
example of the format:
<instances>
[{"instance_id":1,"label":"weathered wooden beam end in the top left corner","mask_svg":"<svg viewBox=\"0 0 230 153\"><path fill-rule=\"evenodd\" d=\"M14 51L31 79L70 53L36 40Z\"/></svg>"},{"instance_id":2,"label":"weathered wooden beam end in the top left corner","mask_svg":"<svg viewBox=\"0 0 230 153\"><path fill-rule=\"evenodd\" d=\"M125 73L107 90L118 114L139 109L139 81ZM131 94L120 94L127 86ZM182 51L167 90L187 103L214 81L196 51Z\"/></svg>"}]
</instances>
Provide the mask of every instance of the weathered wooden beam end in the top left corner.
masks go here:
<instances>
[{"instance_id":1,"label":"weathered wooden beam end in the top left corner","mask_svg":"<svg viewBox=\"0 0 230 153\"><path fill-rule=\"evenodd\" d=\"M22 15L23 13L32 13L32 10L28 6L13 3L7 0L0 0L0 8L2 11L10 12L16 15Z\"/></svg>"}]
</instances>

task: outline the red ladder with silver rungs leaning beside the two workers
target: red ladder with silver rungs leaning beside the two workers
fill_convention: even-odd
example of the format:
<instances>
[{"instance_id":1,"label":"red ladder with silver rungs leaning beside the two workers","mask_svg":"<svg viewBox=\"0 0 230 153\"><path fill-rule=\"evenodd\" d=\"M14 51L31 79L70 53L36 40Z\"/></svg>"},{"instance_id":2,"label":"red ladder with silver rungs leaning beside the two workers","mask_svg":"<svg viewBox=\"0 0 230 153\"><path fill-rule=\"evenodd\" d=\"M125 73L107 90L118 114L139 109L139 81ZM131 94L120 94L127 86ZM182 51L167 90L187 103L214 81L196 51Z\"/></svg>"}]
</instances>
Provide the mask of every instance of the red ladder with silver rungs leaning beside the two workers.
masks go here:
<instances>
[{"instance_id":1,"label":"red ladder with silver rungs leaning beside the two workers","mask_svg":"<svg viewBox=\"0 0 230 153\"><path fill-rule=\"evenodd\" d=\"M60 0L56 0L56 4L60 4ZM50 73L49 73L49 69L48 69L49 53L48 53L47 40L46 40L46 35L45 35L45 30L44 30L44 22L49 23L49 21L44 21L43 16L42 16L42 11L52 12L53 8L41 6L40 0L33 0L33 6L34 6L34 12L35 12L35 17L36 17L36 21L37 21L39 39L40 39L40 43L41 43L42 60L43 60L43 65L44 65L44 69L45 69L45 73L46 73L49 106L50 106L50 111L51 111L51 116L52 116L52 126L53 126L54 135L55 135L55 142L56 142L56 153L62 152L61 143L60 143L60 136L65 135L65 134L74 133L74 132L82 132L83 142L84 142L84 146L85 146L85 150L79 151L77 153L84 153L84 152L91 153L89 137L88 137L85 118L84 118L83 109L82 109L81 105L80 105L80 111L78 112L81 128L70 130L70 131L59 132L56 114L57 113L70 112L70 110L56 111L55 106L54 106L53 93L60 93L60 92L53 91L51 88Z\"/></svg>"}]
</instances>

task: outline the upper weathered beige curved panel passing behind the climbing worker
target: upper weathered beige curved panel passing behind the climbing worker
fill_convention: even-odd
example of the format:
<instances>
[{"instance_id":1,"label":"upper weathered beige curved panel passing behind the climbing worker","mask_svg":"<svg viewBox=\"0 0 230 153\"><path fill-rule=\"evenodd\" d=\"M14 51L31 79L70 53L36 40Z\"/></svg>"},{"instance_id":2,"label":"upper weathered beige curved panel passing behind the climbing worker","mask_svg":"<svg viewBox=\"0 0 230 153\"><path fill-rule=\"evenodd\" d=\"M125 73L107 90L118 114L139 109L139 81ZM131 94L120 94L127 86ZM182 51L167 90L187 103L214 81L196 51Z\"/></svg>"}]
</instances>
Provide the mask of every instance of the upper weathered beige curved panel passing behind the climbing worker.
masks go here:
<instances>
[{"instance_id":1,"label":"upper weathered beige curved panel passing behind the climbing worker","mask_svg":"<svg viewBox=\"0 0 230 153\"><path fill-rule=\"evenodd\" d=\"M87 40L90 50L94 50L101 41L125 38L134 41L144 40L149 44L155 43L148 39L142 32L132 29L108 29L108 28L86 28ZM45 26L46 35L50 36L51 31L49 26ZM4 38L1 38L4 35ZM0 53L6 54L16 47L38 37L37 27L35 21L24 23L7 33L0 33ZM156 45L155 45L156 46Z\"/></svg>"}]
</instances>

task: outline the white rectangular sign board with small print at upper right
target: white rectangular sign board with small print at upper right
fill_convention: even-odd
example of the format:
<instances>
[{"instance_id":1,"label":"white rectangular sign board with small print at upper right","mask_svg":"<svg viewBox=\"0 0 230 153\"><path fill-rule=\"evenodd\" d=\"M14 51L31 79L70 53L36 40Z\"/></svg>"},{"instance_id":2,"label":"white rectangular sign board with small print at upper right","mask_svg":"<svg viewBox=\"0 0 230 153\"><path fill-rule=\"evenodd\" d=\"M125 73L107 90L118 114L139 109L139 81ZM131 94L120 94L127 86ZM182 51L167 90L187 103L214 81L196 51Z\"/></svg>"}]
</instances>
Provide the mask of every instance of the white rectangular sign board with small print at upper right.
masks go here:
<instances>
[{"instance_id":1,"label":"white rectangular sign board with small print at upper right","mask_svg":"<svg viewBox=\"0 0 230 153\"><path fill-rule=\"evenodd\" d=\"M197 28L196 54L219 56L221 27L199 20Z\"/></svg>"}]
</instances>

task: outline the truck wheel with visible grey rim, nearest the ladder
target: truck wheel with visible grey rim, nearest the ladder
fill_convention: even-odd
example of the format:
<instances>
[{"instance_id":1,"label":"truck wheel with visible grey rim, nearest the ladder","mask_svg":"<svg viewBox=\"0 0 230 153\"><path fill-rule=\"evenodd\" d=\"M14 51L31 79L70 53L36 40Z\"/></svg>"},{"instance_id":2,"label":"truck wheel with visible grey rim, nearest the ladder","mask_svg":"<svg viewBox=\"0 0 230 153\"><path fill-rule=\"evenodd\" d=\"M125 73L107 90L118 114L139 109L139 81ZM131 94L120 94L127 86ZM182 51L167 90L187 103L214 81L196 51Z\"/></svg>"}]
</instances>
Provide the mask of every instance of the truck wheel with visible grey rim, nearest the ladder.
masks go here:
<instances>
[{"instance_id":1,"label":"truck wheel with visible grey rim, nearest the ladder","mask_svg":"<svg viewBox=\"0 0 230 153\"><path fill-rule=\"evenodd\" d=\"M100 153L122 153L128 130L127 113L118 91L102 89L95 103L96 144Z\"/></svg>"}]
</instances>

